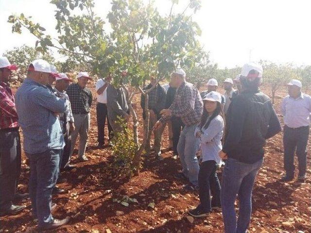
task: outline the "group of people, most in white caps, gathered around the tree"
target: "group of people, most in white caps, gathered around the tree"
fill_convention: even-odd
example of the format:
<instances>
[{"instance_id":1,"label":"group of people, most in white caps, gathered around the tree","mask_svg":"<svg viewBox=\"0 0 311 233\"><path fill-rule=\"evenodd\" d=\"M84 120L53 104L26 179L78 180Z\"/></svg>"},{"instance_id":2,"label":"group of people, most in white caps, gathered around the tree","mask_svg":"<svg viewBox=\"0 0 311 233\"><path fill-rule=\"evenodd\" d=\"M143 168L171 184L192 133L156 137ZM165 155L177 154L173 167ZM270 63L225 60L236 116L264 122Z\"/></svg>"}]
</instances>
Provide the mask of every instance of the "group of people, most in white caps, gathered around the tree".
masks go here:
<instances>
[{"instance_id":1,"label":"group of people, most in white caps, gathered around the tree","mask_svg":"<svg viewBox=\"0 0 311 233\"><path fill-rule=\"evenodd\" d=\"M56 219L52 210L52 194L63 193L56 186L59 173L72 169L70 158L80 135L78 158L85 155L92 93L86 87L91 77L80 72L77 83L44 60L35 60L28 67L27 78L15 97L9 86L9 76L17 66L0 57L0 213L16 214L26 206L13 202L28 198L16 193L21 166L19 127L24 138L24 150L29 159L29 197L32 216L41 230L55 229L67 224L69 218ZM225 95L217 92L218 82L210 79L207 90L199 90L186 81L183 69L176 69L168 84L150 83L148 111L145 96L141 96L143 118L149 115L149 129L154 134L154 151L161 159L161 137L166 125L170 147L180 158L182 172L176 179L184 180L186 190L197 190L200 204L189 211L194 217L207 216L212 210L222 209L225 233L245 233L251 218L251 196L255 178L263 163L264 145L268 138L281 131L273 105L259 89L262 67L247 63L234 80L224 82ZM126 76L123 71L121 76ZM98 147L104 142L105 122L108 144L115 133L121 132L118 118L130 119L124 86L111 85L108 75L96 83ZM233 89L234 84L237 90ZM287 84L289 96L282 102L284 116L283 182L294 179L294 153L298 156L298 180L306 179L307 142L309 138L311 97L301 92L302 83L292 80ZM201 151L198 159L198 151ZM217 169L225 162L222 183ZM239 199L239 217L235 200Z\"/></svg>"}]
</instances>

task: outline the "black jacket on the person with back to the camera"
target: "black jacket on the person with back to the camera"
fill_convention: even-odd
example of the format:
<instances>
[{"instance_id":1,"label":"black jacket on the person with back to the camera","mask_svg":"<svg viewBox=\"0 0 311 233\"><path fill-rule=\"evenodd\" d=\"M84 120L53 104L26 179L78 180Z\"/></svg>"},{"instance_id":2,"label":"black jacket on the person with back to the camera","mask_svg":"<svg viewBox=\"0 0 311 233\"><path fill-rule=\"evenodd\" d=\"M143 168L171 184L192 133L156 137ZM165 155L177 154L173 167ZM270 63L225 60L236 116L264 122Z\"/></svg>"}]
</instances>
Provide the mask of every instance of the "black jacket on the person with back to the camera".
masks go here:
<instances>
[{"instance_id":1,"label":"black jacket on the person with back to the camera","mask_svg":"<svg viewBox=\"0 0 311 233\"><path fill-rule=\"evenodd\" d=\"M223 151L228 158L247 164L259 161L266 139L281 131L269 97L259 89L244 91L232 99L226 128Z\"/></svg>"}]
</instances>

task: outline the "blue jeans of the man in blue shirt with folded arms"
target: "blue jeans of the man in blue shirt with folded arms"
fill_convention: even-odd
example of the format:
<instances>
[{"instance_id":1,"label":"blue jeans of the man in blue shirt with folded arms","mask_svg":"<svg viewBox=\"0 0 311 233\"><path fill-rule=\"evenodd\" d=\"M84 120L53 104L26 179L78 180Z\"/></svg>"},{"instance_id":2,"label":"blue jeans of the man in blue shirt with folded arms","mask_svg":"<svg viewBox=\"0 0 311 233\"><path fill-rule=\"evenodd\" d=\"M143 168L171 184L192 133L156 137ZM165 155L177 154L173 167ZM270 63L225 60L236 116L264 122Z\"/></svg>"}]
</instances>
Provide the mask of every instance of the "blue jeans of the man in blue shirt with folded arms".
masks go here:
<instances>
[{"instance_id":1,"label":"blue jeans of the man in blue shirt with folded arms","mask_svg":"<svg viewBox=\"0 0 311 233\"><path fill-rule=\"evenodd\" d=\"M62 150L28 154L30 162L29 196L38 226L52 221L52 189L56 184Z\"/></svg>"}]
</instances>

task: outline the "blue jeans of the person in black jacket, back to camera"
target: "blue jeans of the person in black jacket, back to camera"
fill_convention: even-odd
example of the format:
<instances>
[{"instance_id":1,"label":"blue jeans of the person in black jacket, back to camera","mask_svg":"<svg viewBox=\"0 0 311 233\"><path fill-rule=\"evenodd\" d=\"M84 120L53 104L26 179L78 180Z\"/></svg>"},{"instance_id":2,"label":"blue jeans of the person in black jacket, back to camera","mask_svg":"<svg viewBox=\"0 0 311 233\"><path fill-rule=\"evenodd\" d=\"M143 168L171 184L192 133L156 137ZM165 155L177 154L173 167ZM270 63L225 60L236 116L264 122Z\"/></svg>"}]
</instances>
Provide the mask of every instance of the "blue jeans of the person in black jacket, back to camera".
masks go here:
<instances>
[{"instance_id":1,"label":"blue jeans of the person in black jacket, back to camera","mask_svg":"<svg viewBox=\"0 0 311 233\"><path fill-rule=\"evenodd\" d=\"M221 203L225 233L245 233L252 213L252 191L263 159L254 164L227 159L223 172ZM239 218L237 222L234 202L239 198Z\"/></svg>"}]
</instances>

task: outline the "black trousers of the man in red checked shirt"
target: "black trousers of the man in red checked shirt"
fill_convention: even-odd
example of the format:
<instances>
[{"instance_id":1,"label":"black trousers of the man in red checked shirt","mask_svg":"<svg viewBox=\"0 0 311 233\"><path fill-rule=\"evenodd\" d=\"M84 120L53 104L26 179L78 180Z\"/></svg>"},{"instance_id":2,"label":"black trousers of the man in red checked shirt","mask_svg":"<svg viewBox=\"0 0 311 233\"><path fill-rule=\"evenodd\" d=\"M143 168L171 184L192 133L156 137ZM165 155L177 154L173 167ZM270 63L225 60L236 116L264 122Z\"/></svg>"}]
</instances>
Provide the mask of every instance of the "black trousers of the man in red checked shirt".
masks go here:
<instances>
[{"instance_id":1,"label":"black trousers of the man in red checked shirt","mask_svg":"<svg viewBox=\"0 0 311 233\"><path fill-rule=\"evenodd\" d=\"M18 128L0 130L0 210L11 205L21 168Z\"/></svg>"}]
</instances>

